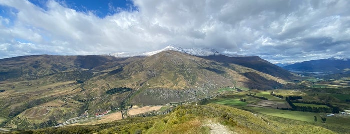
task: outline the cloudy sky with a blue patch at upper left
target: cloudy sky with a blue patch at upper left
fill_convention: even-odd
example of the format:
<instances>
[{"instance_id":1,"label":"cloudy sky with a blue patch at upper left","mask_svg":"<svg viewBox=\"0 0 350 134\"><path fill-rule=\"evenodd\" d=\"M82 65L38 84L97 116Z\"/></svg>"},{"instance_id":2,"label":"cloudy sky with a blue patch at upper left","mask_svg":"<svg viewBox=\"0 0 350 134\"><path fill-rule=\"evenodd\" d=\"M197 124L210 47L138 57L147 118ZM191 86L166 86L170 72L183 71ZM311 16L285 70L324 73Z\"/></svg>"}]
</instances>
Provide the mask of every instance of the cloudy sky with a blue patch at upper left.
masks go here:
<instances>
[{"instance_id":1,"label":"cloudy sky with a blue patch at upper left","mask_svg":"<svg viewBox=\"0 0 350 134\"><path fill-rule=\"evenodd\" d=\"M168 45L272 63L350 58L350 1L0 0L0 59Z\"/></svg>"}]
</instances>

